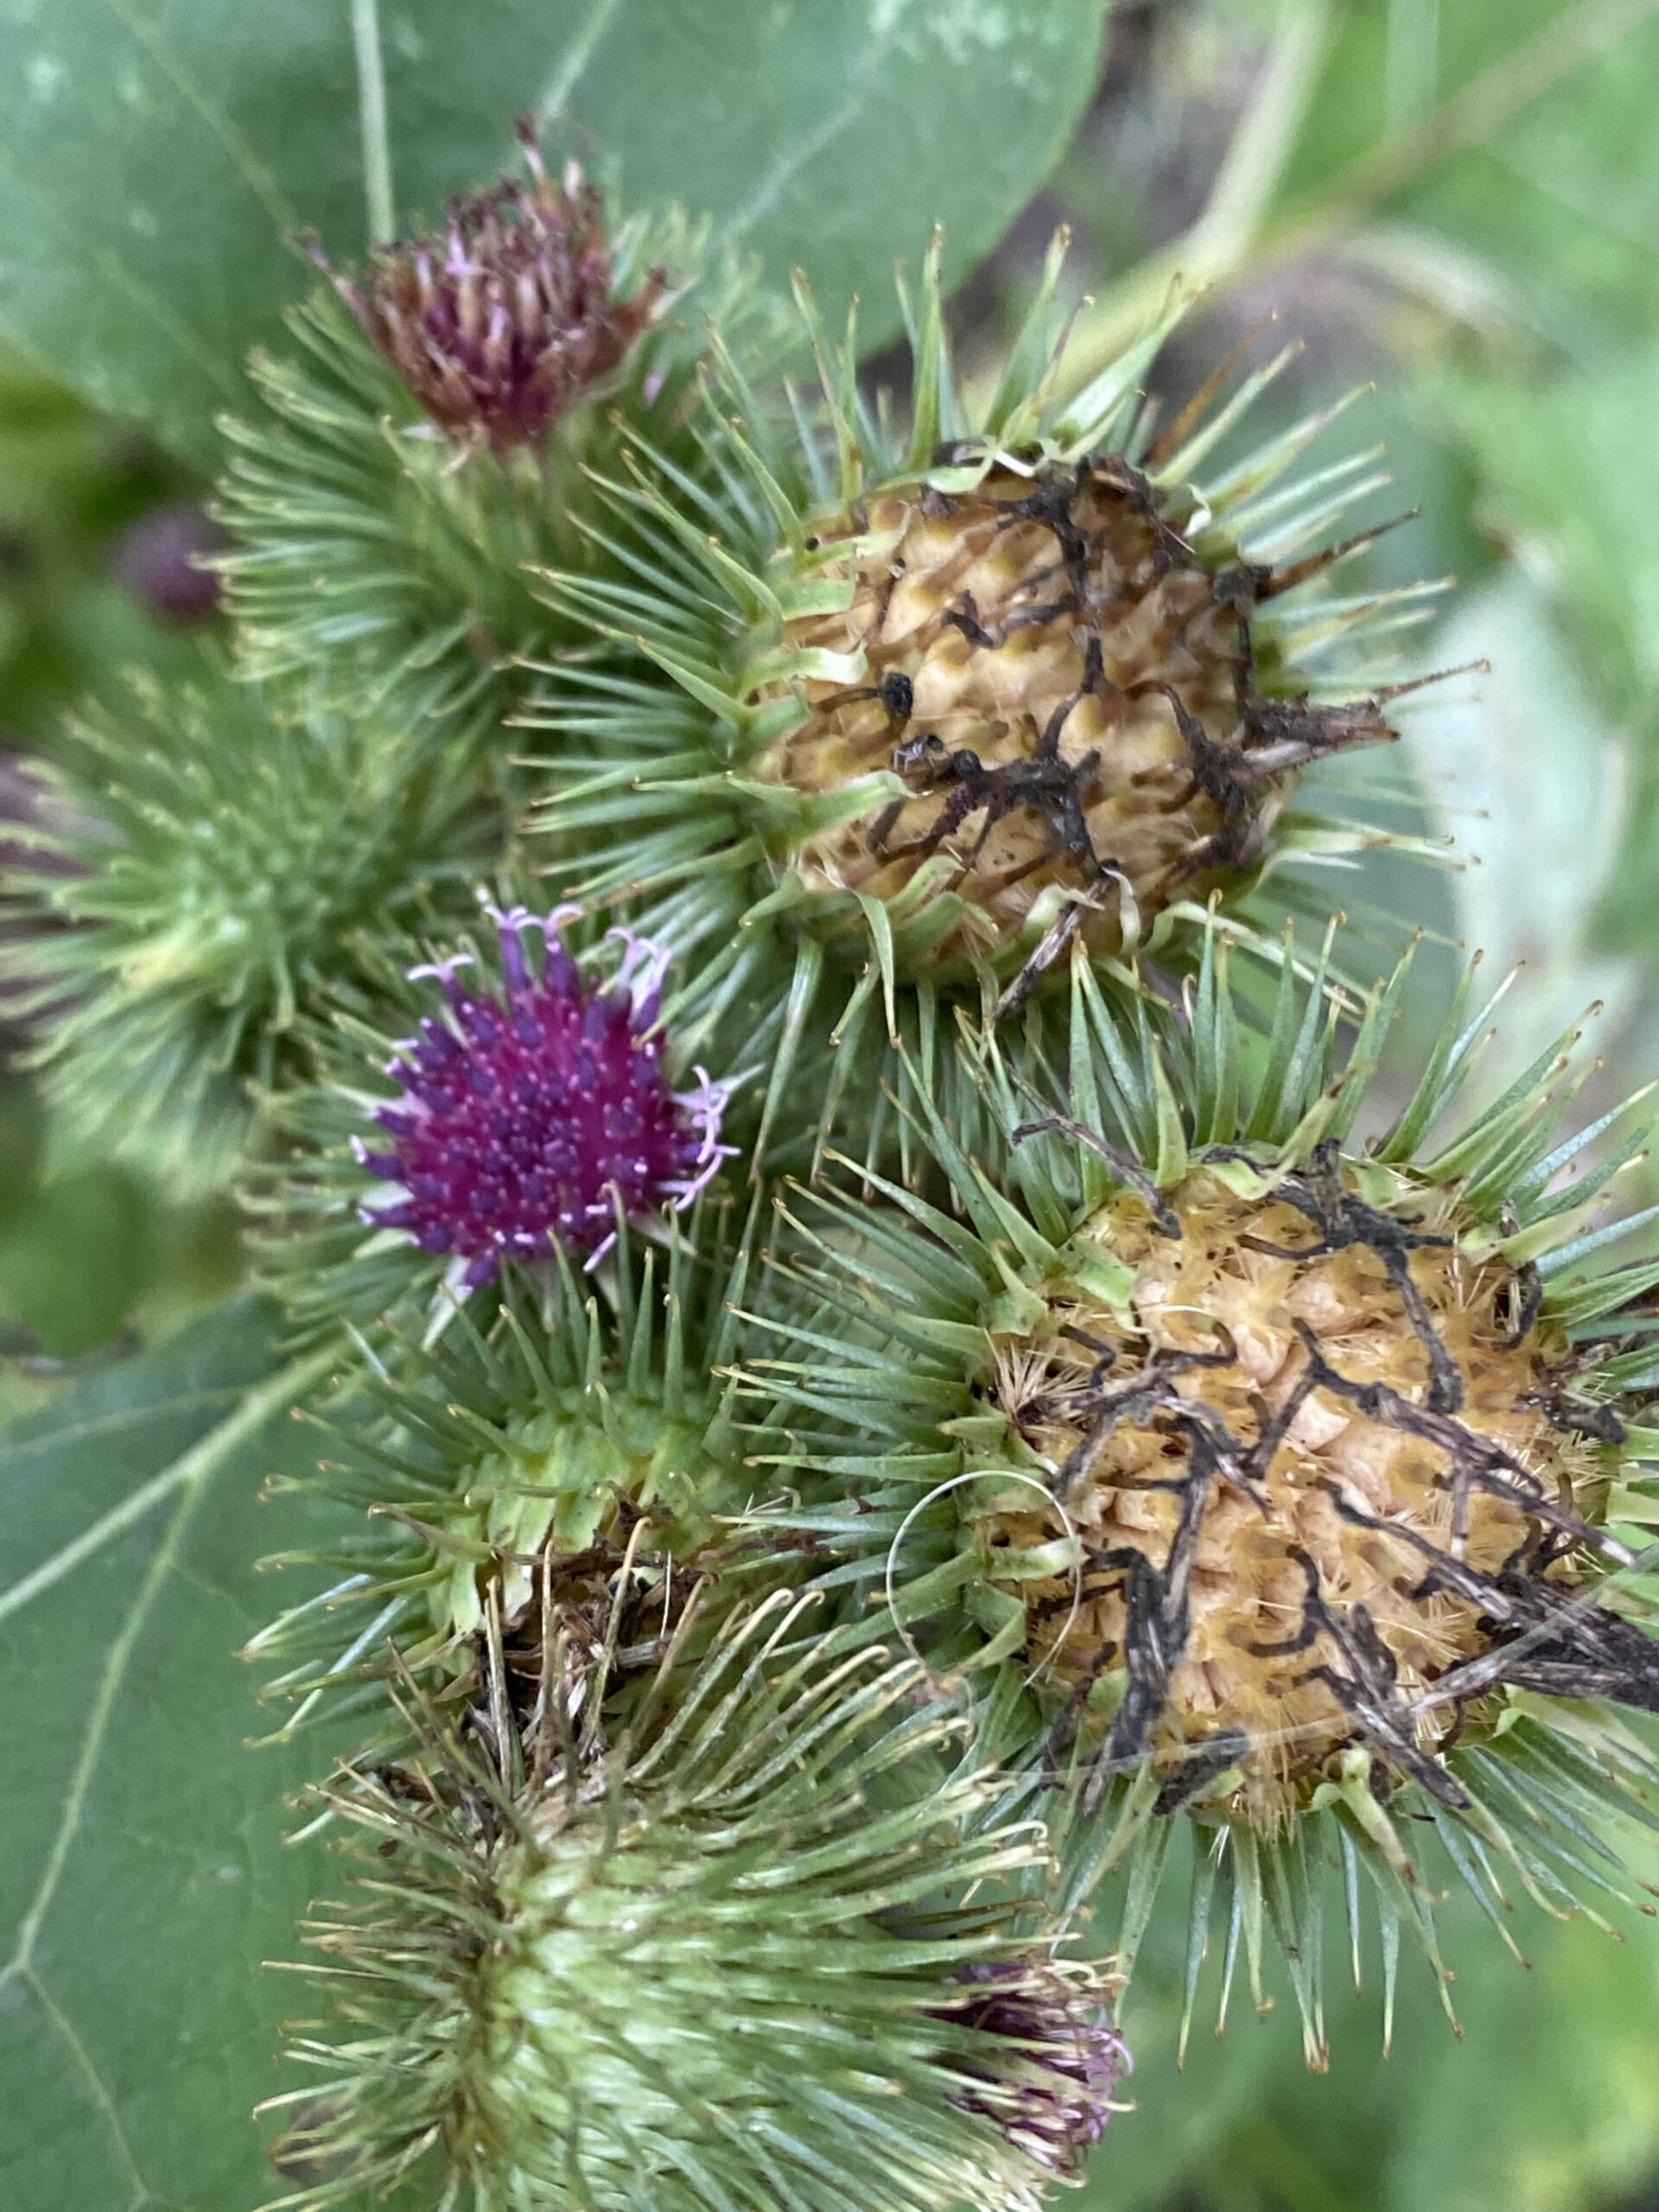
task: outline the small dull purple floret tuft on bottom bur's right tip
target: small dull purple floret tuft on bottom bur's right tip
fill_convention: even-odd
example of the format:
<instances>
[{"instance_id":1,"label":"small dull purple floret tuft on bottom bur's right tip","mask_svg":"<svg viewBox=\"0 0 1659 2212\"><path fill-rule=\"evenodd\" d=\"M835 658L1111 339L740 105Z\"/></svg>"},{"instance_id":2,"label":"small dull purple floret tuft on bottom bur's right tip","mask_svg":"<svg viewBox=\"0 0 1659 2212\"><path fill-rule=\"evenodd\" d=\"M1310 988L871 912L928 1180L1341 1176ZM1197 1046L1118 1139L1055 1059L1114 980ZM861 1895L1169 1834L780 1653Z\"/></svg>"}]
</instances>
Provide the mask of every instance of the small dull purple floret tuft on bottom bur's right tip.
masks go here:
<instances>
[{"instance_id":1,"label":"small dull purple floret tuft on bottom bur's right tip","mask_svg":"<svg viewBox=\"0 0 1659 2212\"><path fill-rule=\"evenodd\" d=\"M938 2017L1000 2044L982 2059L956 2059L984 2086L953 2101L993 2119L1051 2172L1075 2172L1106 2132L1113 2093L1130 2068L1099 1982L1077 1984L1060 1966L1015 1960L958 1966L953 1980L969 1989Z\"/></svg>"}]
</instances>

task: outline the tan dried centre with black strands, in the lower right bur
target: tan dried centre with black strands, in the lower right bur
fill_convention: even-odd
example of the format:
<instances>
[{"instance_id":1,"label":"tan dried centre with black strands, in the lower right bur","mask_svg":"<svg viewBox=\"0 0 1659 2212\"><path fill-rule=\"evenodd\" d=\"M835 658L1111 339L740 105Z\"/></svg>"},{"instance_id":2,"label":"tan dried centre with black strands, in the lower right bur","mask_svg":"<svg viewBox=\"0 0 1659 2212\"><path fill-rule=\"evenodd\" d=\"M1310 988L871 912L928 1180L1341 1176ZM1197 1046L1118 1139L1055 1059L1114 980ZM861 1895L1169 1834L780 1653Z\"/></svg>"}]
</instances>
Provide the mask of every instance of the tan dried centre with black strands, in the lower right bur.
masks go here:
<instances>
[{"instance_id":1,"label":"tan dried centre with black strands, in the lower right bur","mask_svg":"<svg viewBox=\"0 0 1659 2212\"><path fill-rule=\"evenodd\" d=\"M1055 1283L998 1345L1055 1504L1009 1491L982 1542L1077 1531L1079 1575L1018 1584L1029 1650L1066 1734L1119 1681L1102 1772L1150 1754L1166 1809L1274 1827L1352 1745L1462 1809L1436 1754L1498 1679L1590 1694L1582 1635L1575 1683L1544 1677L1617 1416L1524 1270L1460 1250L1455 1197L1374 1201L1332 1150L1265 1197L1208 1166L1159 1212L1126 1192L1082 1237L1133 1272L1128 1314Z\"/></svg>"}]
</instances>

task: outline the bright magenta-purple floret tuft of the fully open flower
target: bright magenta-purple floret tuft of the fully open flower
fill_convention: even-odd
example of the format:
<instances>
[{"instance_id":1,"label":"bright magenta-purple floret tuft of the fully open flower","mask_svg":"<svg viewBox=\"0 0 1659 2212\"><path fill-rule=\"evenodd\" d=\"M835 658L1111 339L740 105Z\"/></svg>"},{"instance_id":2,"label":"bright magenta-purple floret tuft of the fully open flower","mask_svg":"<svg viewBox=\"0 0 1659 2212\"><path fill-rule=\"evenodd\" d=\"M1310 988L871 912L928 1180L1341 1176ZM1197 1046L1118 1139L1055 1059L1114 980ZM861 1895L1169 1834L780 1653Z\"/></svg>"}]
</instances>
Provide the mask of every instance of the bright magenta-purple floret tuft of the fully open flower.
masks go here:
<instances>
[{"instance_id":1,"label":"bright magenta-purple floret tuft of the fully open flower","mask_svg":"<svg viewBox=\"0 0 1659 2212\"><path fill-rule=\"evenodd\" d=\"M719 1141L721 1084L697 1068L697 1088L677 1093L664 1073L650 1029L666 953L611 931L624 958L599 989L560 945L573 907L484 911L500 936L500 995L458 980L471 953L409 969L436 980L447 1018L427 1015L387 1064L403 1095L374 1117L385 1141L354 1144L365 1168L403 1190L363 1219L465 1261L467 1290L504 1256L544 1256L551 1243L597 1265L617 1210L684 1210L737 1150ZM533 936L538 964L526 958Z\"/></svg>"}]
</instances>

